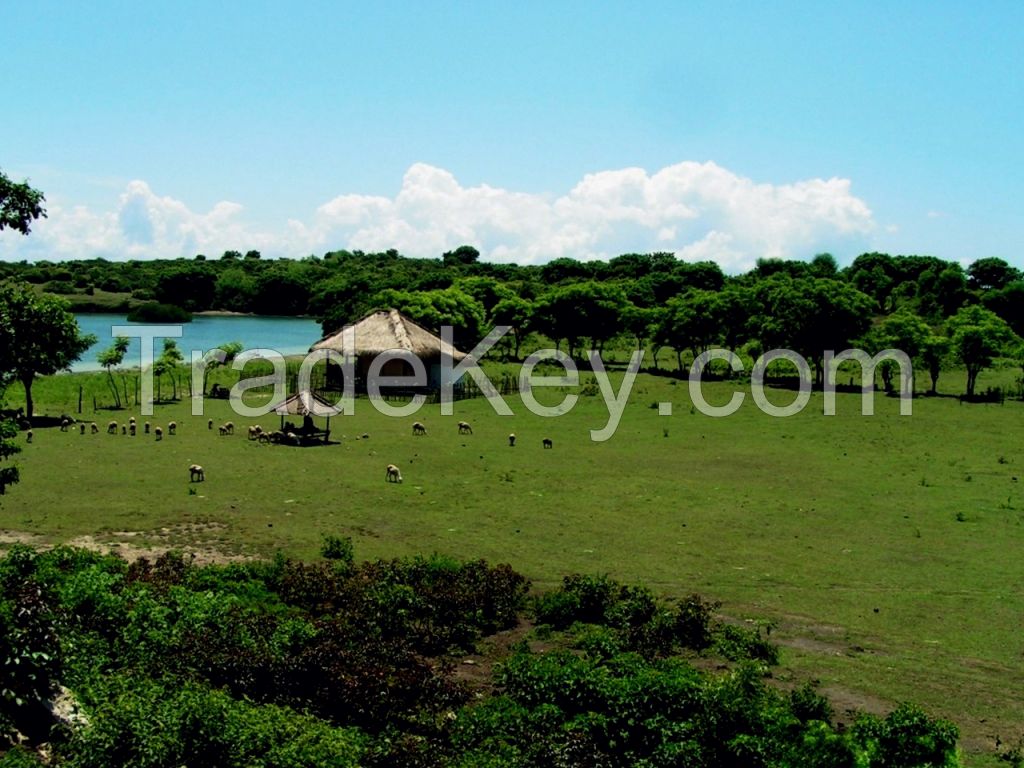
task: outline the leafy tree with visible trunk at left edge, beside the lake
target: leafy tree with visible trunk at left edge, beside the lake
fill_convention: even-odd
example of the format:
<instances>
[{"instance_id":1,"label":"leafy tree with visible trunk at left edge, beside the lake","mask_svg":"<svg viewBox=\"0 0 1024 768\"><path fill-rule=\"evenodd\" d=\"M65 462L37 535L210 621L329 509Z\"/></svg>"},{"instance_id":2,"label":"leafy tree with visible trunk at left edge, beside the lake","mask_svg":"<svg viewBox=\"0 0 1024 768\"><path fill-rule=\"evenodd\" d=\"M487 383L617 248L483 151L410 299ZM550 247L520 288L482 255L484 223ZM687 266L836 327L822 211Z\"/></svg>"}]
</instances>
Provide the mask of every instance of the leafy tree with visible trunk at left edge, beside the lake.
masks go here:
<instances>
[{"instance_id":1,"label":"leafy tree with visible trunk at left edge, beside the lake","mask_svg":"<svg viewBox=\"0 0 1024 768\"><path fill-rule=\"evenodd\" d=\"M0 384L22 382L29 419L36 376L67 370L95 343L95 336L81 333L63 299L24 284L0 285Z\"/></svg>"}]
</instances>

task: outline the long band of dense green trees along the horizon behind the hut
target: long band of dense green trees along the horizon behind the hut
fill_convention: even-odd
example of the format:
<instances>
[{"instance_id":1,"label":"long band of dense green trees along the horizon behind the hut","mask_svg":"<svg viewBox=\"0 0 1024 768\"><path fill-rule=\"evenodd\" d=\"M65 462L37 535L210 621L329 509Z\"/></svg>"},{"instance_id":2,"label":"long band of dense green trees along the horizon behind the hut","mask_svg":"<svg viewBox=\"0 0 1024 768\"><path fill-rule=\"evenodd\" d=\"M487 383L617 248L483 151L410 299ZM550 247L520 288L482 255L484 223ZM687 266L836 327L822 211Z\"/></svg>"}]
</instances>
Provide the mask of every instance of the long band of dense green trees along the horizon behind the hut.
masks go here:
<instances>
[{"instance_id":1,"label":"long band of dense green trees along the horizon behind the hut","mask_svg":"<svg viewBox=\"0 0 1024 768\"><path fill-rule=\"evenodd\" d=\"M985 308L1008 327L1009 334L990 339L999 355L1018 356L1024 333L1024 275L997 258L964 269L931 256L866 253L840 269L819 254L806 262L762 259L744 274L726 275L713 262L683 262L671 253L517 265L482 262L463 246L440 259L391 250L270 260L228 251L217 259L92 259L74 268L23 262L0 264L3 278L63 294L77 310L134 308L141 314L133 316L174 322L211 309L311 314L331 333L373 309L396 307L430 329L452 326L466 348L490 327L509 326L501 350L516 358L530 334L564 343L570 355L623 339L652 347L655 365L669 347L679 367L684 351L695 357L713 346L744 347L756 356L784 347L803 354L818 377L825 349L906 341L892 324L878 333L899 317L931 335L905 351L933 384L944 366L971 365L963 362L965 353L972 356L964 345L973 342L953 339L947 325L961 310Z\"/></svg>"}]
</instances>

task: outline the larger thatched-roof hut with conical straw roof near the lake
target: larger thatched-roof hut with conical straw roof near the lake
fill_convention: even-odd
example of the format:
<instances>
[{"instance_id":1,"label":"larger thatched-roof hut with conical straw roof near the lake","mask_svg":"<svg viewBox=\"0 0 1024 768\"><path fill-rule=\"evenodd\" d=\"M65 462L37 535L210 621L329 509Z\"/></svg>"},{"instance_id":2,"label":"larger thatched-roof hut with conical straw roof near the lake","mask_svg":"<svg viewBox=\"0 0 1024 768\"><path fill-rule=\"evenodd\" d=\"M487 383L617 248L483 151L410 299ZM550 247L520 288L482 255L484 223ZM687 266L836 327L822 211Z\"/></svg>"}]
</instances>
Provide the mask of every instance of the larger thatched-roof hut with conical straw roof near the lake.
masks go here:
<instances>
[{"instance_id":1,"label":"larger thatched-roof hut with conical straw roof near the lake","mask_svg":"<svg viewBox=\"0 0 1024 768\"><path fill-rule=\"evenodd\" d=\"M345 349L346 332L349 349ZM447 358L451 365L456 365L465 358L454 346L418 326L397 309L381 309L371 312L352 326L327 336L310 347L310 351L330 349L343 355L348 351L355 360L355 385L358 389L366 388L370 367L381 354L387 354L383 366L378 372L380 377L411 377L413 367L409 360L395 356L396 352L414 354L419 357L427 371L425 388L436 390L444 383L441 360Z\"/></svg>"}]
</instances>

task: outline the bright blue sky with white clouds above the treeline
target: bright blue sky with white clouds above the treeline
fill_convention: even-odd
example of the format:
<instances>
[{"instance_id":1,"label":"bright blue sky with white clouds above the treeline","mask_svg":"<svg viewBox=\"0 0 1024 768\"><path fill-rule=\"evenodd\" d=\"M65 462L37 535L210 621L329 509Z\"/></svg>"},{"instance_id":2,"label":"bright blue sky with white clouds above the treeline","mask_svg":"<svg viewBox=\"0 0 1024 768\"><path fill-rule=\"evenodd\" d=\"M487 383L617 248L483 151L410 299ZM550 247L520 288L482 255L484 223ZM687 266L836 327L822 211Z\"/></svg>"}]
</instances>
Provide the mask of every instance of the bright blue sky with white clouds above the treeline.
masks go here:
<instances>
[{"instance_id":1,"label":"bright blue sky with white clouds above the treeline","mask_svg":"<svg viewBox=\"0 0 1024 768\"><path fill-rule=\"evenodd\" d=\"M1024 4L8 3L0 259L1024 266Z\"/></svg>"}]
</instances>

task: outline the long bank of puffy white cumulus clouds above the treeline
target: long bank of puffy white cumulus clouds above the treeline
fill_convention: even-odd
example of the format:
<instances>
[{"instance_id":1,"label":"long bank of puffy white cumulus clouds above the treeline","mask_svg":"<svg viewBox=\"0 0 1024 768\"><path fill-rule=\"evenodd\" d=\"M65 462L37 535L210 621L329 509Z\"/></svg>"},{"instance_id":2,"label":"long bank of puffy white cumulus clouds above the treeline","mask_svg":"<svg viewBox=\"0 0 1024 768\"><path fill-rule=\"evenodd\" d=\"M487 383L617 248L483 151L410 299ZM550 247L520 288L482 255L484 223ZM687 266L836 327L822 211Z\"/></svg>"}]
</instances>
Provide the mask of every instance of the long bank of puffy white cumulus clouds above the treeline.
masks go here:
<instances>
[{"instance_id":1,"label":"long bank of puffy white cumulus clouds above the treeline","mask_svg":"<svg viewBox=\"0 0 1024 768\"><path fill-rule=\"evenodd\" d=\"M759 257L803 258L866 245L876 223L850 187L840 178L757 183L715 163L684 162L655 173L587 174L555 197L463 186L451 172L418 163L394 197L340 195L273 232L249 222L237 203L197 213L132 181L113 211L51 207L29 238L4 232L0 258L166 258L249 248L268 256L390 248L439 256L468 244L493 261L672 251L736 271Z\"/></svg>"}]
</instances>

